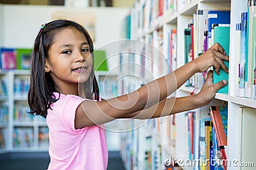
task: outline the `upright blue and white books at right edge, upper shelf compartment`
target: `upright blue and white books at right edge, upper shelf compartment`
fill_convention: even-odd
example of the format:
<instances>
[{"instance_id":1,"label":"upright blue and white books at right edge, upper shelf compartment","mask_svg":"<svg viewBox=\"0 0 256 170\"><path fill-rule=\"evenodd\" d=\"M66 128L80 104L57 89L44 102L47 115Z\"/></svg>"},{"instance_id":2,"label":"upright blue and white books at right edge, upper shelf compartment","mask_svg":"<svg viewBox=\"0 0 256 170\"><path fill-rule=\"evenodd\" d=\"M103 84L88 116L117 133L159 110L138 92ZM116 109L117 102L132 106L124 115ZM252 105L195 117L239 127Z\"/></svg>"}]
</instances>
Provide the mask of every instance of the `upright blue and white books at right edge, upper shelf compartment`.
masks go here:
<instances>
[{"instance_id":1,"label":"upright blue and white books at right edge, upper shelf compartment","mask_svg":"<svg viewBox=\"0 0 256 170\"><path fill-rule=\"evenodd\" d=\"M248 0L248 10L236 24L235 95L255 99L256 96L256 2Z\"/></svg>"}]
</instances>

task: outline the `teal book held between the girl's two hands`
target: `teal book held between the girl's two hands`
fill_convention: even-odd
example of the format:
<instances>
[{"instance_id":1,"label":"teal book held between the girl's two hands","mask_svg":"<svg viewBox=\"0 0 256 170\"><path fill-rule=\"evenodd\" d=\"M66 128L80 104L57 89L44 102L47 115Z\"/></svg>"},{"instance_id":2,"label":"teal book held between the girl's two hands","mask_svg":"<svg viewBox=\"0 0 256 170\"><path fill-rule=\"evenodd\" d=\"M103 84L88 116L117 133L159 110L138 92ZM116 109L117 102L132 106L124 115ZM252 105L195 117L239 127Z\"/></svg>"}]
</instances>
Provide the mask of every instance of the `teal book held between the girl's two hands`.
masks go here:
<instances>
[{"instance_id":1,"label":"teal book held between the girl's two hands","mask_svg":"<svg viewBox=\"0 0 256 170\"><path fill-rule=\"evenodd\" d=\"M226 55L229 56L229 38L230 38L230 27L214 27L214 43L219 43L226 52ZM228 67L228 62L224 61L225 65ZM227 80L228 73L223 69L220 69L220 74L216 74L213 71L213 83L218 83L219 81ZM228 93L228 85L222 87L218 90L218 93Z\"/></svg>"}]
</instances>

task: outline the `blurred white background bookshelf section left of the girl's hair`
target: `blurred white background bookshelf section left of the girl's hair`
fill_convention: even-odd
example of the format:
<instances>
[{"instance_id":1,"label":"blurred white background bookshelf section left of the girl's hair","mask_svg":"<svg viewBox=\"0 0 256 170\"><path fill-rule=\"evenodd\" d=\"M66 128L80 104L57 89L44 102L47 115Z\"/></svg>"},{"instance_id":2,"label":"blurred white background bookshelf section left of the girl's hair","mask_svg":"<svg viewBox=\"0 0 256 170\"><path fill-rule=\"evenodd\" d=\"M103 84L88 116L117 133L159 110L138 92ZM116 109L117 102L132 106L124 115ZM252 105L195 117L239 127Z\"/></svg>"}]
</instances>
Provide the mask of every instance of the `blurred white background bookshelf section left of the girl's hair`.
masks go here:
<instances>
[{"instance_id":1,"label":"blurred white background bookshelf section left of the girl's hair","mask_svg":"<svg viewBox=\"0 0 256 170\"><path fill-rule=\"evenodd\" d=\"M1 70L6 83L6 99L1 100L8 110L8 120L1 126L5 152L42 152L48 150L49 138L44 118L33 117L28 111L29 70ZM1 88L3 89L3 87Z\"/></svg>"}]
</instances>

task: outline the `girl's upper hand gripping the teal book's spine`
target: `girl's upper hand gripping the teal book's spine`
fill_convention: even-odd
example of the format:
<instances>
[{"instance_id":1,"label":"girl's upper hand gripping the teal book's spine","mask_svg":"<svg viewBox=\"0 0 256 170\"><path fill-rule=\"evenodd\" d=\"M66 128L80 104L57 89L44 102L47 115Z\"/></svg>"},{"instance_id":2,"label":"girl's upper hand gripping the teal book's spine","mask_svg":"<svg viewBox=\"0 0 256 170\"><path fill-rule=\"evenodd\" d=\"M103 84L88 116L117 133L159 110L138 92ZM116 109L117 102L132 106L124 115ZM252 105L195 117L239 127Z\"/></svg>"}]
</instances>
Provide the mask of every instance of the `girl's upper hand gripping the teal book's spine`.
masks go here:
<instances>
[{"instance_id":1,"label":"girl's upper hand gripping the teal book's spine","mask_svg":"<svg viewBox=\"0 0 256 170\"><path fill-rule=\"evenodd\" d=\"M200 73L207 71L207 69L211 66L214 67L217 74L220 73L220 68L228 73L228 68L223 60L228 61L229 58L223 50L222 46L219 43L215 43L205 53L191 62L195 64L195 67L198 69L197 72Z\"/></svg>"}]
</instances>

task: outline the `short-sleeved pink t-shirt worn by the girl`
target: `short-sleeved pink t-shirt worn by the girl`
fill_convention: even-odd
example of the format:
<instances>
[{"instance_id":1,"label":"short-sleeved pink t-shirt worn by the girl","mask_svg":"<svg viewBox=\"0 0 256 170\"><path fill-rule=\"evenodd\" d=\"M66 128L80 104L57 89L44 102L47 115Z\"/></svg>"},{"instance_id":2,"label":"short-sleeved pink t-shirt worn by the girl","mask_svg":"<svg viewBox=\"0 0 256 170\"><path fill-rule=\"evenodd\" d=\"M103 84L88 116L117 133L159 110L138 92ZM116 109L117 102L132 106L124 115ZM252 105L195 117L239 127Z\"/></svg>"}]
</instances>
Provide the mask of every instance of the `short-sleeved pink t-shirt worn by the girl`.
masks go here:
<instances>
[{"instance_id":1,"label":"short-sleeved pink t-shirt worn by the girl","mask_svg":"<svg viewBox=\"0 0 256 170\"><path fill-rule=\"evenodd\" d=\"M54 93L58 99L59 94ZM48 169L107 169L108 148L103 125L75 129L75 115L79 104L85 99L60 94L47 113L49 127Z\"/></svg>"}]
</instances>

